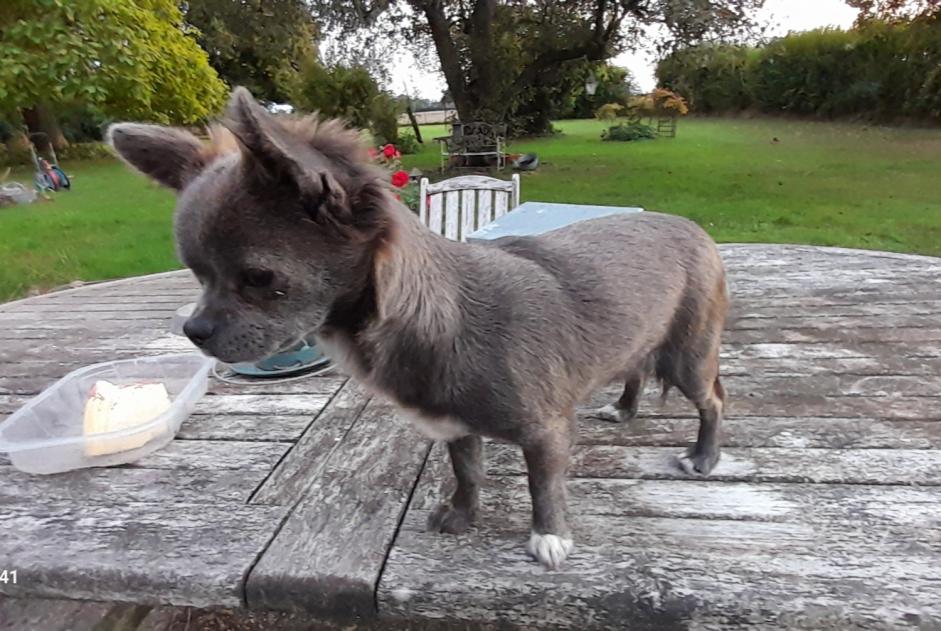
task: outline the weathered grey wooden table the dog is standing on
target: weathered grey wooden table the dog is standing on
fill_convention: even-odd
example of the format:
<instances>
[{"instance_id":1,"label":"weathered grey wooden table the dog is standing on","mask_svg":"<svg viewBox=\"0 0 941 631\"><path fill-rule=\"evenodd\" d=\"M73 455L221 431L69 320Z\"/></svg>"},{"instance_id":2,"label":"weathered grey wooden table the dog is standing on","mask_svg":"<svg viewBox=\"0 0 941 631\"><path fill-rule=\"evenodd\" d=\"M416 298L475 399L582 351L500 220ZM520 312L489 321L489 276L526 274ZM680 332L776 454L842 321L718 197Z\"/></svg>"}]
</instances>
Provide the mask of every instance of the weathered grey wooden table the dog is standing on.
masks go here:
<instances>
[{"instance_id":1,"label":"weathered grey wooden table the dog is standing on","mask_svg":"<svg viewBox=\"0 0 941 631\"><path fill-rule=\"evenodd\" d=\"M489 446L475 531L425 533L452 484L444 450L326 376L216 382L131 466L32 477L0 460L0 570L18 571L0 593L538 628L938 628L941 261L722 252L714 477L671 464L696 427L676 396L629 427L583 418L560 572L523 552L516 449ZM0 412L73 368L186 347L168 327L196 293L178 272L0 306Z\"/></svg>"}]
</instances>

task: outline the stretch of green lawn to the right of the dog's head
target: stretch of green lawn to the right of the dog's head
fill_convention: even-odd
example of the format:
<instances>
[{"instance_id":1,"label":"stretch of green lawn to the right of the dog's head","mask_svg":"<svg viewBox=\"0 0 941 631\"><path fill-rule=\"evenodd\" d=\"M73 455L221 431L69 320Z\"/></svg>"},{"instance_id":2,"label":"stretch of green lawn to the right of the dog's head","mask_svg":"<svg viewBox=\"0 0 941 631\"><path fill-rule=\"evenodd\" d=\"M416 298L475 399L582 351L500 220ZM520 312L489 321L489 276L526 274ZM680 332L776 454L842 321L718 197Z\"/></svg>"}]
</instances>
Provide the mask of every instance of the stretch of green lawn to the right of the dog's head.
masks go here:
<instances>
[{"instance_id":1,"label":"stretch of green lawn to the right of the dog's head","mask_svg":"<svg viewBox=\"0 0 941 631\"><path fill-rule=\"evenodd\" d=\"M941 255L941 130L689 119L675 139L621 143L601 142L598 121L557 126L510 147L540 157L524 200L661 210L723 242ZM436 151L405 164L436 168Z\"/></svg>"}]
</instances>

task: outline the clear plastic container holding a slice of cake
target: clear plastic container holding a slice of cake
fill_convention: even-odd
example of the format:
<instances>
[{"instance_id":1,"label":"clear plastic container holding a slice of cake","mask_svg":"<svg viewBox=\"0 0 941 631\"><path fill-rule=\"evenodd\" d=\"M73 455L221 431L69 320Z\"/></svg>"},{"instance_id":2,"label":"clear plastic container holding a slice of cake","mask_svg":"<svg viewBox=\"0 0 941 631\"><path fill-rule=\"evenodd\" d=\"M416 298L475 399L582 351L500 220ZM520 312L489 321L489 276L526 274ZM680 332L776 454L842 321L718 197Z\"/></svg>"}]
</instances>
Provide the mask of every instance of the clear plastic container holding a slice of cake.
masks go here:
<instances>
[{"instance_id":1,"label":"clear plastic container holding a slice of cake","mask_svg":"<svg viewBox=\"0 0 941 631\"><path fill-rule=\"evenodd\" d=\"M8 453L13 466L27 473L133 462L173 439L206 394L212 364L201 354L186 353L106 362L71 372L0 424L0 452ZM85 435L85 404L100 380L119 386L162 383L170 407L140 425ZM122 447L127 444L139 446ZM115 453L102 453L112 450Z\"/></svg>"}]
</instances>

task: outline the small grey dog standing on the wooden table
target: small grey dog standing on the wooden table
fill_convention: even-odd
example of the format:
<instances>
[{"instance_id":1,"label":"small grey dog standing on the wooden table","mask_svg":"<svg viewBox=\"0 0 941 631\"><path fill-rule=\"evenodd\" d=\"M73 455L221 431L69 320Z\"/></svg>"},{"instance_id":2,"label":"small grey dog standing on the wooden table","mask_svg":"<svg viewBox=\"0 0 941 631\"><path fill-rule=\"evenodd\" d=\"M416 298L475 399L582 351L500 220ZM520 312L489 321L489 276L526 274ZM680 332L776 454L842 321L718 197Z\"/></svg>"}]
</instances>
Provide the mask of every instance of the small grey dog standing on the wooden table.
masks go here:
<instances>
[{"instance_id":1,"label":"small grey dog standing on the wooden table","mask_svg":"<svg viewBox=\"0 0 941 631\"><path fill-rule=\"evenodd\" d=\"M478 511L481 436L522 447L532 495L527 550L557 568L572 549L565 477L575 406L620 380L598 416L627 421L644 379L699 409L690 474L719 459L719 338L728 300L715 244L655 213L469 245L432 234L395 201L342 124L272 117L244 89L211 142L119 124L110 141L179 193L176 238L202 283L185 331L226 362L315 335L346 371L446 440L457 490L429 528Z\"/></svg>"}]
</instances>

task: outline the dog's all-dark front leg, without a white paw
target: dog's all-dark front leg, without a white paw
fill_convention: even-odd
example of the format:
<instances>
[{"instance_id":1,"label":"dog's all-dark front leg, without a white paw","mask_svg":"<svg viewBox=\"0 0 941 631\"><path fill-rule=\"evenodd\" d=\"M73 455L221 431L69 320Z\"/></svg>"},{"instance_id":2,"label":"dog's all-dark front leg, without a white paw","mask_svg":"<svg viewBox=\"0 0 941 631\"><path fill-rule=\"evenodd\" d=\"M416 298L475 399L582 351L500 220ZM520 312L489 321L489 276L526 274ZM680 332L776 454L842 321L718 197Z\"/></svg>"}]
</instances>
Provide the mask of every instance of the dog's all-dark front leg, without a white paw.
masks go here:
<instances>
[{"instance_id":1,"label":"dog's all-dark front leg, without a white paw","mask_svg":"<svg viewBox=\"0 0 941 631\"><path fill-rule=\"evenodd\" d=\"M428 530L461 534L473 523L480 506L480 485L484 479L484 445L480 436L465 436L448 442L457 489L451 501L441 504L428 516Z\"/></svg>"}]
</instances>

